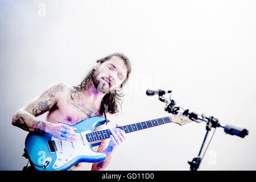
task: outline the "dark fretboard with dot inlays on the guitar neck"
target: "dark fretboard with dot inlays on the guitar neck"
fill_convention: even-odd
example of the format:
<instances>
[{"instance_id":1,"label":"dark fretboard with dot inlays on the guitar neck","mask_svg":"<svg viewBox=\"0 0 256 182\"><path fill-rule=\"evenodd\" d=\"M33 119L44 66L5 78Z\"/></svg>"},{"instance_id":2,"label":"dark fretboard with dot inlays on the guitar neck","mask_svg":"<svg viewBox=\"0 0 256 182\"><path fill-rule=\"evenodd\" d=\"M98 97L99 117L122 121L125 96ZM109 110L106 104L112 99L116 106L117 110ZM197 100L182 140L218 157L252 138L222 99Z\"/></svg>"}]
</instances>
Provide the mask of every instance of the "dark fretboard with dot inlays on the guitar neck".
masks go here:
<instances>
[{"instance_id":1,"label":"dark fretboard with dot inlays on the guitar neck","mask_svg":"<svg viewBox=\"0 0 256 182\"><path fill-rule=\"evenodd\" d=\"M164 118L153 119L150 121L134 123L131 125L120 126L118 128L125 131L125 133L131 133L133 131L148 129L150 127L159 126L159 125L163 125L170 122L172 122L170 117L164 117ZM101 130L93 133L88 133L85 136L88 142L93 142L100 139L110 138L110 135L111 133L108 129L108 130Z\"/></svg>"}]
</instances>

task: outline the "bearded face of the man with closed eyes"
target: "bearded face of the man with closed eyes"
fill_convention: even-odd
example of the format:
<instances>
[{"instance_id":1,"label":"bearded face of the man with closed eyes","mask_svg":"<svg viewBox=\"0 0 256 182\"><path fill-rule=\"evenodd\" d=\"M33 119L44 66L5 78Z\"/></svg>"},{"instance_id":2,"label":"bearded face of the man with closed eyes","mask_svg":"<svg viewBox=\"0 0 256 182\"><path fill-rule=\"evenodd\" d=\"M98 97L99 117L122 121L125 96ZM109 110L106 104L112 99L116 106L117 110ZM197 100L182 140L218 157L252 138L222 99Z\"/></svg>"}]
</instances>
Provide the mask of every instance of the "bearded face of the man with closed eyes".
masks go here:
<instances>
[{"instance_id":1,"label":"bearded face of the man with closed eyes","mask_svg":"<svg viewBox=\"0 0 256 182\"><path fill-rule=\"evenodd\" d=\"M124 61L113 56L104 63L94 65L93 83L99 92L112 93L126 79L128 69Z\"/></svg>"}]
</instances>

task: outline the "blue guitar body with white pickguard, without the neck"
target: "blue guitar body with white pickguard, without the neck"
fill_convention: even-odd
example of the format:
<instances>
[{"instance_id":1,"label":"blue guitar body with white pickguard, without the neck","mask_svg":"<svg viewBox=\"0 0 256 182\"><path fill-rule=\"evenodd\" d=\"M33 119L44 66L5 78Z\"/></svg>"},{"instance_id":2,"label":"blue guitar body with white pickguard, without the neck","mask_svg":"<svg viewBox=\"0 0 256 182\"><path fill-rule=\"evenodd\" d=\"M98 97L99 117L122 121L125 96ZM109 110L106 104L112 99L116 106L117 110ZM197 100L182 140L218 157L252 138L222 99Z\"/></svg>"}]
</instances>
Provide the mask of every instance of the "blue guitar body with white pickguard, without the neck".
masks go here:
<instances>
[{"instance_id":1,"label":"blue guitar body with white pickguard, without the neck","mask_svg":"<svg viewBox=\"0 0 256 182\"><path fill-rule=\"evenodd\" d=\"M105 118L92 117L73 125L77 129L76 133L80 134L74 142L59 140L49 134L29 133L25 149L31 165L39 171L63 171L80 162L102 162L106 154L93 151L93 144L88 142L85 134L93 133L95 127L104 123Z\"/></svg>"}]
</instances>

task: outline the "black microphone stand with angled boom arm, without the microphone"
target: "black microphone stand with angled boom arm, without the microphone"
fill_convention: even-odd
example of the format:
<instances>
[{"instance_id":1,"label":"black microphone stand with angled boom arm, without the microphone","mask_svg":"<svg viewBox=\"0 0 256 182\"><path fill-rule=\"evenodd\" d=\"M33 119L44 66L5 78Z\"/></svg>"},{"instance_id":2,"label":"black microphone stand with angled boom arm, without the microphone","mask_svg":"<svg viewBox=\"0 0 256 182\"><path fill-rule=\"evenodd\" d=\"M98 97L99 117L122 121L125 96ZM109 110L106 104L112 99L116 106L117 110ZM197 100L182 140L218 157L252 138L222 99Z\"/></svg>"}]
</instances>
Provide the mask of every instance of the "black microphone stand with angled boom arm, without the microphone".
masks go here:
<instances>
[{"instance_id":1,"label":"black microphone stand with angled boom arm, without the microphone","mask_svg":"<svg viewBox=\"0 0 256 182\"><path fill-rule=\"evenodd\" d=\"M182 107L179 107L179 106L176 106L176 102L174 100L171 100L171 94L172 94L172 91L171 90L168 90L168 93L171 93L170 94L170 100L168 100L167 98L163 97L164 94L166 94L167 92L164 92L162 89L159 89L161 92L158 92L156 94L158 94L158 99L159 101L161 102L164 102L166 103L166 106L164 107L164 110L167 111L168 113L171 113L171 114L180 114L180 115L184 115L186 117L188 117L189 119L191 119L192 121L204 121L206 122L206 134L205 134L205 137L204 137L204 140L203 140L203 143L201 144L201 148L200 148L200 151L199 151L199 154L197 155L196 158L193 158L193 160L191 162L188 161L188 164L190 165L190 170L191 171L197 171L197 169L199 168L200 166L200 163L203 159L203 156L201 157L201 152L203 150L203 147L204 147L204 144L205 144L205 141L207 140L207 137L208 137L208 134L209 134L209 131L214 128L214 132L213 132L213 135L216 131L216 128L217 127L222 127L224 128L224 132L226 134L230 134L230 135L237 135L238 137L241 137L241 138L244 138L246 135L249 134L249 131L246 130L246 129L242 129L240 127L236 127L236 126L232 126L232 125L226 125L226 126L221 126L220 123L218 122L218 119L217 118L214 118L213 116L210 116L210 117L206 117L204 114L201 114L201 117L199 117L199 114L196 114L194 112L189 112L189 110L185 110L183 109ZM183 112L179 112L180 109L183 109L184 111ZM212 135L212 137L213 137ZM210 138L210 141L212 140L212 138ZM210 143L209 141L209 143ZM209 143L208 143L208 146L209 146ZM208 148L207 146L207 148ZM207 151L207 148L205 149L205 152ZM204 154L205 154L204 152Z\"/></svg>"}]
</instances>

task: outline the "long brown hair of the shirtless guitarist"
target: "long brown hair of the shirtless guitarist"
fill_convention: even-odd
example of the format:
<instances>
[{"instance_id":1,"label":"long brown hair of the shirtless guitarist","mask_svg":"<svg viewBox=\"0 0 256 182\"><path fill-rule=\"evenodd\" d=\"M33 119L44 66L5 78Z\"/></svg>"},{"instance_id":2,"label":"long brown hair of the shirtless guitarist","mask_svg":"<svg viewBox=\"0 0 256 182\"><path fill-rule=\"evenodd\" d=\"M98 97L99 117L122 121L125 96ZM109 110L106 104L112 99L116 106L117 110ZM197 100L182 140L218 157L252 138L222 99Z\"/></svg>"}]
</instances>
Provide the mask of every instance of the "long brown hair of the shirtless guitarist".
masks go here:
<instances>
[{"instance_id":1,"label":"long brown hair of the shirtless guitarist","mask_svg":"<svg viewBox=\"0 0 256 182\"><path fill-rule=\"evenodd\" d=\"M113 56L117 56L119 58L121 58L123 60L123 62L125 63L128 72L127 72L127 76L125 81L122 82L122 85L117 89L114 90L113 92L107 93L101 101L101 108L100 108L100 114L102 114L105 110L104 105L106 105L106 107L108 108L108 112L111 114L114 113L119 113L119 107L122 110L122 97L124 96L123 94L123 85L125 85L125 83L127 82L130 73L131 73L131 64L130 64L130 60L128 59L127 56L125 56L124 53L112 53L108 56L102 57L101 59L97 60L96 63L104 63L105 61L110 60ZM73 86L73 88L77 91L80 92L82 90L86 90L89 86L89 81L93 78L95 69L91 69L88 74L85 76L84 80L82 80L82 82L77 85L77 86ZM72 92L72 94L75 92ZM72 94L71 94L71 98L72 98ZM72 98L73 99L73 98ZM119 106L118 106L119 105Z\"/></svg>"}]
</instances>

